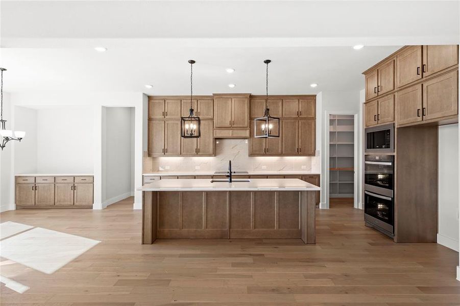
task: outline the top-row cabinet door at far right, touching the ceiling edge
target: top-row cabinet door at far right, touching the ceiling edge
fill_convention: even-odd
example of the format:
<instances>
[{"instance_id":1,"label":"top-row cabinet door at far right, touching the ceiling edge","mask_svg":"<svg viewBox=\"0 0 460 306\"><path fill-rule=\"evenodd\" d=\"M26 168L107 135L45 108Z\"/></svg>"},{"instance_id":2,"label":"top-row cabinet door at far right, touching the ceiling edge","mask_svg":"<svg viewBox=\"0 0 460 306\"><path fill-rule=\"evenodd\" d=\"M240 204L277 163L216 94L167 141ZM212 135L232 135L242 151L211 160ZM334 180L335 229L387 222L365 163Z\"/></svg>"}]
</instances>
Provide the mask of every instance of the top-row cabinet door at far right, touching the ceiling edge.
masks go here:
<instances>
[{"instance_id":1,"label":"top-row cabinet door at far right, touching the ceiling edge","mask_svg":"<svg viewBox=\"0 0 460 306\"><path fill-rule=\"evenodd\" d=\"M423 46L423 77L458 64L458 45Z\"/></svg>"}]
</instances>

